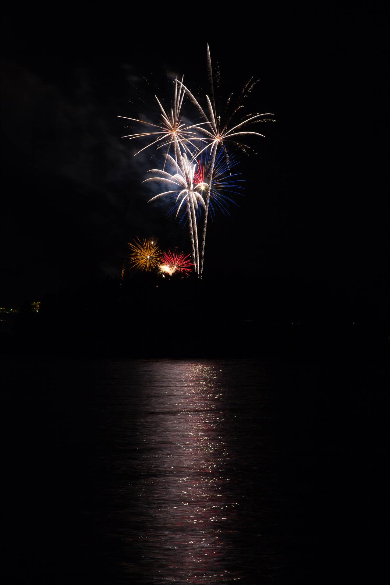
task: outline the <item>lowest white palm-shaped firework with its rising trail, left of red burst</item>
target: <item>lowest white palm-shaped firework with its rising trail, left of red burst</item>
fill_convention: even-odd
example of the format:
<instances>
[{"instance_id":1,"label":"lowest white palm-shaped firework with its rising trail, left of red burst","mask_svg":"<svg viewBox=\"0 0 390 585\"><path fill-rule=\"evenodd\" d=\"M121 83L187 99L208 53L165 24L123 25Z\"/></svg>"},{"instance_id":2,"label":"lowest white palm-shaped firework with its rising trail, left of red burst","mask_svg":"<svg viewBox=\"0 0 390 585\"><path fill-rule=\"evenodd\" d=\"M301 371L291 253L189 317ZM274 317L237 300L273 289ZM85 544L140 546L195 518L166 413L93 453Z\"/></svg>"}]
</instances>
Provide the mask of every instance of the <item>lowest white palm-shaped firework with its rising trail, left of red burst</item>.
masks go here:
<instances>
[{"instance_id":1,"label":"lowest white palm-shaped firework with its rising trail, left of red burst","mask_svg":"<svg viewBox=\"0 0 390 585\"><path fill-rule=\"evenodd\" d=\"M167 184L168 188L173 187L168 191L163 191L154 195L150 201L154 201L161 197L174 198L174 205L177 205L176 217L178 216L183 204L187 207L189 236L192 247L192 260L194 262L195 271L199 274L199 248L198 248L198 230L196 228L196 213L198 204L205 208L205 201L202 197L202 189L194 183L194 174L196 163L191 164L188 161L187 155L183 153L178 161L175 161L170 154L165 154L166 161L176 167L176 173L170 174L167 171L157 168L151 169L150 173L157 174L157 177L150 177L143 181L154 181L160 184ZM199 189L199 190L198 190Z\"/></svg>"}]
</instances>

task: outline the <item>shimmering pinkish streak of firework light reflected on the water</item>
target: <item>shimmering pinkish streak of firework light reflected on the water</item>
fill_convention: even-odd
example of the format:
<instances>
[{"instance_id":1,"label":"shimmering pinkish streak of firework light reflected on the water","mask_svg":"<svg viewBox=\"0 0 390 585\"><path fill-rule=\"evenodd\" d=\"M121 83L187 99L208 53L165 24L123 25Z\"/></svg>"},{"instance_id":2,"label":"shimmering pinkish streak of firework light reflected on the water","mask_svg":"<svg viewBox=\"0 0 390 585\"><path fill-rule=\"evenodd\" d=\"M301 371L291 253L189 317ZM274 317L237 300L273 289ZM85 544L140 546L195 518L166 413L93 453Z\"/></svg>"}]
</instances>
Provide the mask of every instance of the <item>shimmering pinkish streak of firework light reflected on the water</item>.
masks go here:
<instances>
[{"instance_id":1,"label":"shimmering pinkish streak of firework light reflected on the water","mask_svg":"<svg viewBox=\"0 0 390 585\"><path fill-rule=\"evenodd\" d=\"M137 536L137 569L153 583L239 580L240 570L229 565L239 502L230 484L218 367L158 362L157 376L149 367L137 494L149 522Z\"/></svg>"}]
</instances>

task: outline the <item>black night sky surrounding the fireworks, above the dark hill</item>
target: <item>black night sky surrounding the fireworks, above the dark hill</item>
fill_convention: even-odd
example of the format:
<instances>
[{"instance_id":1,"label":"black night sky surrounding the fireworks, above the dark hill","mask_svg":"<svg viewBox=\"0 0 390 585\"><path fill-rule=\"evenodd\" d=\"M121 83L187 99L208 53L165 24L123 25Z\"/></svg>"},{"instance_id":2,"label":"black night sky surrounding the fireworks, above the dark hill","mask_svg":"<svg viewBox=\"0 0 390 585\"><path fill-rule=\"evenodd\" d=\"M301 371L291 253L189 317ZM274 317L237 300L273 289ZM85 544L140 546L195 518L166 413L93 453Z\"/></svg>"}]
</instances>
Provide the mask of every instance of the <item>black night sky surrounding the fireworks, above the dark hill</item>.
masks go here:
<instances>
[{"instance_id":1,"label":"black night sky surrounding the fireworks, above the dark hill","mask_svg":"<svg viewBox=\"0 0 390 585\"><path fill-rule=\"evenodd\" d=\"M354 4L260 8L247 15L249 25L245 15L218 23L210 16L210 33L196 13L177 15L175 25L184 23L177 37L175 26L169 33L163 26L167 13L150 25L149 15L130 11L6 18L2 306L119 277L136 236L154 234L161 247L190 252L187 231L167 218L168 208L147 204L150 189L141 181L157 159L151 150L133 157L146 143L121 139L126 122L117 116L156 119L153 95L167 104L175 73L203 97L209 43L223 95L254 75L260 81L246 112L273 112L276 122L259 125L265 139L250 141L260 157L237 152L244 197L236 196L230 217L218 214L209 225L205 278L229 275L245 286L298 281L385 318L388 15Z\"/></svg>"}]
</instances>

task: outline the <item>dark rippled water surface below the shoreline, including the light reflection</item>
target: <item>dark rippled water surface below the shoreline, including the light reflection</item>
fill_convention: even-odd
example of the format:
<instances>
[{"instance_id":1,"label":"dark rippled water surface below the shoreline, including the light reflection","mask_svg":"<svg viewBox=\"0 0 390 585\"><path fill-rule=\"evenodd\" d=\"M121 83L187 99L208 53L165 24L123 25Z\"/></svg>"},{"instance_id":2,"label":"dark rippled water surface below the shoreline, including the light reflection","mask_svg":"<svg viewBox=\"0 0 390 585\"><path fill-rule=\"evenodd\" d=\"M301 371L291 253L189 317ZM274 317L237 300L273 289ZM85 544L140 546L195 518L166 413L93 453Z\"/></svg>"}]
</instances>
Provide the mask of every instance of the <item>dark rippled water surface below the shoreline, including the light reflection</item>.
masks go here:
<instances>
[{"instance_id":1,"label":"dark rippled water surface below the shoreline, including the light reflection","mask_svg":"<svg viewBox=\"0 0 390 585\"><path fill-rule=\"evenodd\" d=\"M317 369L37 358L4 370L15 578L320 582L346 446Z\"/></svg>"}]
</instances>

